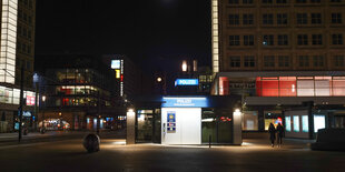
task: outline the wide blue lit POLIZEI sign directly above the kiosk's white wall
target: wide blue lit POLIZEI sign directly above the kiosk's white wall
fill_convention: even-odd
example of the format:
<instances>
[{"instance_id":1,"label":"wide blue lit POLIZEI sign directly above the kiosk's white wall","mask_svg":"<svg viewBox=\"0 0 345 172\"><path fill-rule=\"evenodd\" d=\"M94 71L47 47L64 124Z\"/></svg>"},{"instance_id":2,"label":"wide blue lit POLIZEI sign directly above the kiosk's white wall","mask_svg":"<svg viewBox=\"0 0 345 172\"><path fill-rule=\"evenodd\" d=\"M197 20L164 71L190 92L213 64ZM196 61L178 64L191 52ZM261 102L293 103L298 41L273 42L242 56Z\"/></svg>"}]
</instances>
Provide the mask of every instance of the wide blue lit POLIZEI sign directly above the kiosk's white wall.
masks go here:
<instances>
[{"instance_id":1,"label":"wide blue lit POLIZEI sign directly above the kiosk's white wall","mask_svg":"<svg viewBox=\"0 0 345 172\"><path fill-rule=\"evenodd\" d=\"M205 97L164 97L162 108L208 108L208 99Z\"/></svg>"}]
</instances>

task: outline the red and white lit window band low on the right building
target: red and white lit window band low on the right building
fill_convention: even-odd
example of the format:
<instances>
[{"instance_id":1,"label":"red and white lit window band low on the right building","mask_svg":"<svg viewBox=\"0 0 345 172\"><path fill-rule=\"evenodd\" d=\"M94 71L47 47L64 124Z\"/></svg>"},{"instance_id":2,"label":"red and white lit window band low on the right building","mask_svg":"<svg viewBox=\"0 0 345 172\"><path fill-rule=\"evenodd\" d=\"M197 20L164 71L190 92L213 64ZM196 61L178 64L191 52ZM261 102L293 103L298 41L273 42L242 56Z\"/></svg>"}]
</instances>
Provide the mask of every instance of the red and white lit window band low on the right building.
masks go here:
<instances>
[{"instance_id":1,"label":"red and white lit window band low on the right building","mask_svg":"<svg viewBox=\"0 0 345 172\"><path fill-rule=\"evenodd\" d=\"M345 77L256 77L256 97L345 97ZM231 94L219 77L219 95Z\"/></svg>"}]
</instances>

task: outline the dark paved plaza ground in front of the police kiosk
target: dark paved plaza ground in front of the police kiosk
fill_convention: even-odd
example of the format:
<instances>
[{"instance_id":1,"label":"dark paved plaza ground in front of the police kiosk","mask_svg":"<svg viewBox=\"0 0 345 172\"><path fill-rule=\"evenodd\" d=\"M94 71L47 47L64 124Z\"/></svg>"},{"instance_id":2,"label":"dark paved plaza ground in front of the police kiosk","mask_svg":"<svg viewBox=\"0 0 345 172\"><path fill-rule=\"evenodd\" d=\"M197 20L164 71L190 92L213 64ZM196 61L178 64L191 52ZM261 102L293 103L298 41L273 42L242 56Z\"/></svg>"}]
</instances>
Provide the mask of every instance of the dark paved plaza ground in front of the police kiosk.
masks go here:
<instances>
[{"instance_id":1,"label":"dark paved plaza ground in front of the police kiosk","mask_svg":"<svg viewBox=\"0 0 345 172\"><path fill-rule=\"evenodd\" d=\"M344 171L345 152L310 151L310 141L285 140L272 148L265 139L231 145L125 145L102 139L87 153L82 139L0 146L1 171Z\"/></svg>"}]
</instances>

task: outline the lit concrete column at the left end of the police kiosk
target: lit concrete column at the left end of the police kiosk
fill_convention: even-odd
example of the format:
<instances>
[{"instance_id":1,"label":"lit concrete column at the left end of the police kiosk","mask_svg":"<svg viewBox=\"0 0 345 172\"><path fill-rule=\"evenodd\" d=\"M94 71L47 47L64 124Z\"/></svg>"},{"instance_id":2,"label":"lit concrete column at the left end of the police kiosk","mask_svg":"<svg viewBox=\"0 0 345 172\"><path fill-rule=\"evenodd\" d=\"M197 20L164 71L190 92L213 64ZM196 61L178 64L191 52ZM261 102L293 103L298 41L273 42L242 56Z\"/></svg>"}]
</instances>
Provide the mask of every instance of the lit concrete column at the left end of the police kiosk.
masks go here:
<instances>
[{"instance_id":1,"label":"lit concrete column at the left end of the police kiosk","mask_svg":"<svg viewBox=\"0 0 345 172\"><path fill-rule=\"evenodd\" d=\"M134 109L127 111L127 138L126 144L136 143L136 112Z\"/></svg>"}]
</instances>

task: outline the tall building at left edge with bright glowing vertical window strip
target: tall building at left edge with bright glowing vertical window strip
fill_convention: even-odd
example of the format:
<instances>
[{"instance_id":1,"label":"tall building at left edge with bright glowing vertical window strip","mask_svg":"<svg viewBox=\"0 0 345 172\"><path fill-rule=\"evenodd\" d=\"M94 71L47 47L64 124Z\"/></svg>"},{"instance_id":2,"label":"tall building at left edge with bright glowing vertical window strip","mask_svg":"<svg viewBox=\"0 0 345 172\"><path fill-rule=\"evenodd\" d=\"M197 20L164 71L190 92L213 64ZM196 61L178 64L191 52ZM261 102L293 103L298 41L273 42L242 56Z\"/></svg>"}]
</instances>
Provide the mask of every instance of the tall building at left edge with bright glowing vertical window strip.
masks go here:
<instances>
[{"instance_id":1,"label":"tall building at left edge with bright glowing vertical window strip","mask_svg":"<svg viewBox=\"0 0 345 172\"><path fill-rule=\"evenodd\" d=\"M20 82L23 82L24 123L33 127L32 89L36 0L1 1L0 132L18 129ZM21 78L21 68L23 77ZM28 105L28 107L27 107Z\"/></svg>"}]
</instances>

